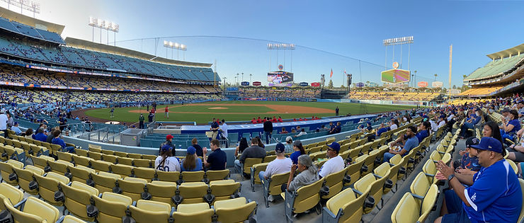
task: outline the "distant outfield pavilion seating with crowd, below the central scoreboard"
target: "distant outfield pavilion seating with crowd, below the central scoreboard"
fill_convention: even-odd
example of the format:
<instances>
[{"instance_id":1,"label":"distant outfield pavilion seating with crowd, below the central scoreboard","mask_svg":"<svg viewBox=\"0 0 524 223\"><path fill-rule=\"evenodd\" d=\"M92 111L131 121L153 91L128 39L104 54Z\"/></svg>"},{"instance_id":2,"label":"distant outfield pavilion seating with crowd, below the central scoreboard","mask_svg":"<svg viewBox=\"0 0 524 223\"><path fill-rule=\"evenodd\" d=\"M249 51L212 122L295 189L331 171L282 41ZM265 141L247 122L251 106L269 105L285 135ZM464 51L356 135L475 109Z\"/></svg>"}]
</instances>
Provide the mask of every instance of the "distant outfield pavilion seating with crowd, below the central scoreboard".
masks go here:
<instances>
[{"instance_id":1,"label":"distant outfield pavilion seating with crowd, below the central scoreboard","mask_svg":"<svg viewBox=\"0 0 524 223\"><path fill-rule=\"evenodd\" d=\"M285 87L246 87L239 88L240 98L320 98L319 88Z\"/></svg>"}]
</instances>

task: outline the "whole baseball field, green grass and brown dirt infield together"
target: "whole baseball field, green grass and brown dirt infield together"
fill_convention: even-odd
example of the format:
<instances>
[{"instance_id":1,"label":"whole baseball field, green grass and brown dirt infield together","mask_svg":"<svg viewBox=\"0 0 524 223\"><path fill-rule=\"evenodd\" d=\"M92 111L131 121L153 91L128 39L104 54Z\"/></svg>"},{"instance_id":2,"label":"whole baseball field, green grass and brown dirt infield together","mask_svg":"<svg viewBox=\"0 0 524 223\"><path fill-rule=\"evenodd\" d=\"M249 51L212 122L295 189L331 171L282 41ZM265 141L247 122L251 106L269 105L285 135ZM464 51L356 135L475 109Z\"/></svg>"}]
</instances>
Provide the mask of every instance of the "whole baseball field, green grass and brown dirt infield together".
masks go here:
<instances>
[{"instance_id":1,"label":"whole baseball field, green grass and brown dirt infield together","mask_svg":"<svg viewBox=\"0 0 524 223\"><path fill-rule=\"evenodd\" d=\"M381 113L392 110L414 108L406 105L372 105L360 103L324 103L324 102L287 102L287 101L217 101L208 103L192 103L184 105L168 105L169 118L164 115L166 105L156 107L156 120L190 121L206 124L212 118L227 121L251 120L258 117L281 116L287 118L319 118L335 115L338 106L339 115L359 115L365 113ZM151 107L149 108L151 109ZM146 107L115 108L114 117L110 118L110 108L84 110L81 115L87 115L98 121L119 121L126 123L138 122L140 113L147 121Z\"/></svg>"}]
</instances>

